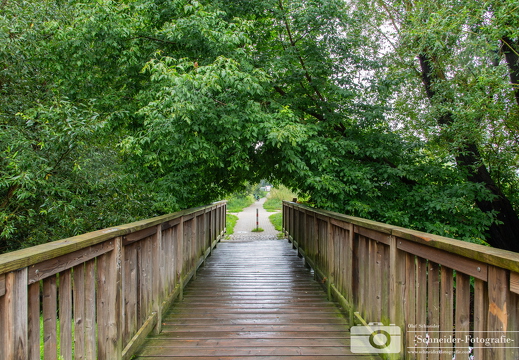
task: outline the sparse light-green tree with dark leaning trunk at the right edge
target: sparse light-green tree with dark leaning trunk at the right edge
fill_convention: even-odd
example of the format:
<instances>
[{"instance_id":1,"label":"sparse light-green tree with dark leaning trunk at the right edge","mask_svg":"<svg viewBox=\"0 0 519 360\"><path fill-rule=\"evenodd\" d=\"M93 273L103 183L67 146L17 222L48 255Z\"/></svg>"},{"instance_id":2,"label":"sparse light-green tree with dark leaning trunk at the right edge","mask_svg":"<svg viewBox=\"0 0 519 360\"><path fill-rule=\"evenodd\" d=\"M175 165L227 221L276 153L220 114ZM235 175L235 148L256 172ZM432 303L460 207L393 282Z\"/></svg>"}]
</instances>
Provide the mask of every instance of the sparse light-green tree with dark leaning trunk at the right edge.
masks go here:
<instances>
[{"instance_id":1,"label":"sparse light-green tree with dark leaning trunk at the right edge","mask_svg":"<svg viewBox=\"0 0 519 360\"><path fill-rule=\"evenodd\" d=\"M509 6L504 7L511 15ZM504 62L515 79L515 43L506 27L500 27L495 9L491 3L450 1L384 2L381 6L395 27L396 52L405 59L393 66L414 71L421 79L427 102L420 110L434 119L436 132L433 137L425 135L441 141L468 182L487 190L487 196L475 200L483 213L496 217L488 229L488 243L519 251L517 209L505 193L513 194L510 190L517 186L513 174L517 138L509 126L516 123L517 108L510 103L516 90L502 81ZM501 54L499 42L510 45L503 46ZM499 59L503 53L506 61ZM503 156L492 156L495 152ZM510 162L499 164L503 160ZM492 168L506 168L508 174L492 173ZM503 181L503 175L509 180Z\"/></svg>"}]
</instances>

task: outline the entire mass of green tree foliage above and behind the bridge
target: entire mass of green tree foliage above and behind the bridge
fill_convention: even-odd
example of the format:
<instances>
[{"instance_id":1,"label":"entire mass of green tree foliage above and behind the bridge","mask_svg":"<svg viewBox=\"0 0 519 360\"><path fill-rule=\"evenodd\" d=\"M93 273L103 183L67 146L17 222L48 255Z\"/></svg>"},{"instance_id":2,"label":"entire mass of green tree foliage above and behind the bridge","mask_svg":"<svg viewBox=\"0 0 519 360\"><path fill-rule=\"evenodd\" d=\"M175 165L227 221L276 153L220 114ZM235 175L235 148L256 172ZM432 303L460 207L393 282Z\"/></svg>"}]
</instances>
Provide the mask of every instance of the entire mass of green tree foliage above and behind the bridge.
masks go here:
<instances>
[{"instance_id":1,"label":"entire mass of green tree foliage above and behind the bridge","mask_svg":"<svg viewBox=\"0 0 519 360\"><path fill-rule=\"evenodd\" d=\"M4 1L0 251L260 179L518 251L518 23L492 0Z\"/></svg>"}]
</instances>

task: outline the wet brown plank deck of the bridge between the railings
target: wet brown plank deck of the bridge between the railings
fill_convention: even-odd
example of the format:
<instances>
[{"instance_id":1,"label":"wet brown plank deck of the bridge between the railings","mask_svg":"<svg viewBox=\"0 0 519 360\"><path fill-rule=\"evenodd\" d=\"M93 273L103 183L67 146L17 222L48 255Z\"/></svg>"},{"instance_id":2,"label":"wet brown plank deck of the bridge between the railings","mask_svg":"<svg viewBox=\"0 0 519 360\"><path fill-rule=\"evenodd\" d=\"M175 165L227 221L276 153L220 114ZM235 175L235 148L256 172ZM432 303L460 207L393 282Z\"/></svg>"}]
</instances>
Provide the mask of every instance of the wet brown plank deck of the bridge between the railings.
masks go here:
<instances>
[{"instance_id":1,"label":"wet brown plank deck of the bridge between the railings","mask_svg":"<svg viewBox=\"0 0 519 360\"><path fill-rule=\"evenodd\" d=\"M340 309L281 240L222 242L136 359L367 359Z\"/></svg>"}]
</instances>

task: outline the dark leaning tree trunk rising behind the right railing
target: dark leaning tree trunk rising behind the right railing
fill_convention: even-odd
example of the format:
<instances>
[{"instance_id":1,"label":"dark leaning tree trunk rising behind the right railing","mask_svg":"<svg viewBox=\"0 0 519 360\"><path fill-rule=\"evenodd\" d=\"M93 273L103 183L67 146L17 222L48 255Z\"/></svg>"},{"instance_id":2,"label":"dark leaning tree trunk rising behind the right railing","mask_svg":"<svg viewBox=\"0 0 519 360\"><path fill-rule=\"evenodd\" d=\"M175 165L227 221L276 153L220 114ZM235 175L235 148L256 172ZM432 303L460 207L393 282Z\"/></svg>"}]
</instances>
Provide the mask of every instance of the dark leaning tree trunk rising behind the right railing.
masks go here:
<instances>
[{"instance_id":1,"label":"dark leaning tree trunk rising behind the right railing","mask_svg":"<svg viewBox=\"0 0 519 360\"><path fill-rule=\"evenodd\" d=\"M420 60L425 92L427 97L432 100L436 96L433 83L440 81L441 76L438 76L438 69L433 68L433 61L426 53L420 54L418 59ZM447 98L437 100L443 103L448 102ZM443 126L451 125L453 123L452 113L443 114L438 119L438 123ZM481 211L486 213L495 211L497 213L497 221L492 223L487 231L487 242L499 249L519 252L519 217L510 200L503 194L490 176L488 169L483 163L477 144L467 141L463 148L456 149L455 159L458 168L466 171L468 181L483 184L493 195L492 200L476 201Z\"/></svg>"}]
</instances>

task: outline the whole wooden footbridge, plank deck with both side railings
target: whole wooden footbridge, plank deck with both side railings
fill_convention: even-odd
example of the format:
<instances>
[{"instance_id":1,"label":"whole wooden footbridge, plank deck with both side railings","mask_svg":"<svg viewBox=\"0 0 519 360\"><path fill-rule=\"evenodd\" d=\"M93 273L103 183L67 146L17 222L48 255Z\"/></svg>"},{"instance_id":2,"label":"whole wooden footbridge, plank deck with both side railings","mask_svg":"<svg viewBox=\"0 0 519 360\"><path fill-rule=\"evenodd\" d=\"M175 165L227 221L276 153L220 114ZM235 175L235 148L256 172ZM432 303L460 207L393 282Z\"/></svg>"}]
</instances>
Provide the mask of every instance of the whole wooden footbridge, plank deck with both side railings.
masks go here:
<instances>
[{"instance_id":1,"label":"whole wooden footbridge, plank deck with both side railings","mask_svg":"<svg viewBox=\"0 0 519 360\"><path fill-rule=\"evenodd\" d=\"M292 202L292 246L216 248L225 213L0 255L0 359L519 359L519 254Z\"/></svg>"}]
</instances>

